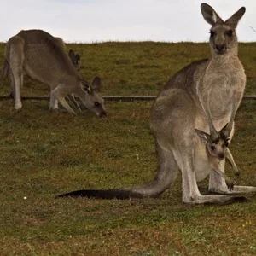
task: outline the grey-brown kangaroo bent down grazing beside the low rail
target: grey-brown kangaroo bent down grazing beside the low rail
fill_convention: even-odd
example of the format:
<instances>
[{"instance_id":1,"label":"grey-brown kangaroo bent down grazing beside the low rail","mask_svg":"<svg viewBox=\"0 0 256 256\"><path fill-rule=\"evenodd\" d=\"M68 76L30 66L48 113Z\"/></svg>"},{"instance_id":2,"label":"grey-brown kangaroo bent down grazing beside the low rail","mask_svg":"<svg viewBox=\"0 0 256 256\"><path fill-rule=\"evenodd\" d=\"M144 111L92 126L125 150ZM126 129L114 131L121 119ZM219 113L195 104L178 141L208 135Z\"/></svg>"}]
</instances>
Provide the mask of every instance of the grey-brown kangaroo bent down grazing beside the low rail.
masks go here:
<instances>
[{"instance_id":1,"label":"grey-brown kangaroo bent down grazing beside the low rail","mask_svg":"<svg viewBox=\"0 0 256 256\"><path fill-rule=\"evenodd\" d=\"M57 109L58 102L67 112L75 114L65 96L79 96L86 108L97 116L106 115L104 100L99 95L101 79L92 85L81 78L73 67L63 47L48 32L42 30L20 31L6 45L11 81L15 87L15 109L22 107L20 87L24 74L51 87L49 108Z\"/></svg>"}]
</instances>

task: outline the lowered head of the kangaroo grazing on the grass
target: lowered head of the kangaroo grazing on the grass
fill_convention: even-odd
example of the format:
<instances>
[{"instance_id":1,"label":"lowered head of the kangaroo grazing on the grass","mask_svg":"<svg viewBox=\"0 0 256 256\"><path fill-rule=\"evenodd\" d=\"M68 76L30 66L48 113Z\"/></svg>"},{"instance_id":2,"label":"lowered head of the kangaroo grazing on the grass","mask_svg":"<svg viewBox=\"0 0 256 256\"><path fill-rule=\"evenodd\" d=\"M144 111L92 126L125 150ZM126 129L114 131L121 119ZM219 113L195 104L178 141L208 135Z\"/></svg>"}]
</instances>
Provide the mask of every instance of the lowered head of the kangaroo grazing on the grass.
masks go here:
<instances>
[{"instance_id":1,"label":"lowered head of the kangaroo grazing on the grass","mask_svg":"<svg viewBox=\"0 0 256 256\"><path fill-rule=\"evenodd\" d=\"M92 112L96 113L96 116L106 116L106 108L104 106L104 99L100 96L101 79L95 77L91 85L84 79L80 80L80 89L77 92L80 100L84 103L86 108L89 108Z\"/></svg>"}]
</instances>

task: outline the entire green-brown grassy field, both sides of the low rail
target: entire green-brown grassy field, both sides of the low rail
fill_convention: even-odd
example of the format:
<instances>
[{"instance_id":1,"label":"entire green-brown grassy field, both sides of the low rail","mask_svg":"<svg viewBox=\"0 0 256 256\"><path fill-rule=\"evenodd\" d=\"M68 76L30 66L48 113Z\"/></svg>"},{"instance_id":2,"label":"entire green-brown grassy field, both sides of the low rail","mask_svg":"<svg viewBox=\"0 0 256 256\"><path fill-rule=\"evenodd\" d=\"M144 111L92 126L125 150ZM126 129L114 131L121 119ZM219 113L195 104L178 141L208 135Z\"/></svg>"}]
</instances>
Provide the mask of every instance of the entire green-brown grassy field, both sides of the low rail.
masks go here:
<instances>
[{"instance_id":1,"label":"entire green-brown grassy field, both sides of the low rail","mask_svg":"<svg viewBox=\"0 0 256 256\"><path fill-rule=\"evenodd\" d=\"M4 45L0 45L3 52ZM209 56L207 44L72 44L85 79L102 77L102 95L157 95L190 61ZM255 45L241 44L247 95L256 94ZM255 52L255 51L254 51ZM3 61L3 55L0 55ZM1 82L9 95L9 80ZM49 95L26 79L26 96ZM47 101L20 112L0 101L1 255L255 255L256 198L228 206L189 206L181 177L163 195L143 200L55 199L74 189L137 186L154 177L152 102L106 102L108 117L50 113ZM230 145L241 176L256 186L256 103L242 102ZM207 189L207 181L200 183Z\"/></svg>"}]
</instances>

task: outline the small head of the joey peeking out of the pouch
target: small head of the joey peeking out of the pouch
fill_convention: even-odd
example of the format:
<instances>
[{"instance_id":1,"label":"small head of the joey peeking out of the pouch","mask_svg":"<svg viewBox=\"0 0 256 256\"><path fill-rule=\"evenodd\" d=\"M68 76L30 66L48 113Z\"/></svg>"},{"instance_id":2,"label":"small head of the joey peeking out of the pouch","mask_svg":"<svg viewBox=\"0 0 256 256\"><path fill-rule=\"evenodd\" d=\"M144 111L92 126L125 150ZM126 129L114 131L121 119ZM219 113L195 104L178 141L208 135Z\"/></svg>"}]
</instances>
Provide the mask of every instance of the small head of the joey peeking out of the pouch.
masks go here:
<instances>
[{"instance_id":1,"label":"small head of the joey peeking out of the pouch","mask_svg":"<svg viewBox=\"0 0 256 256\"><path fill-rule=\"evenodd\" d=\"M201 141L206 145L207 154L218 158L218 160L224 159L225 149L229 146L230 134L226 136L226 127L227 125L218 132L218 136L216 136L216 134L210 135L204 131L195 129L195 132L201 138Z\"/></svg>"}]
</instances>

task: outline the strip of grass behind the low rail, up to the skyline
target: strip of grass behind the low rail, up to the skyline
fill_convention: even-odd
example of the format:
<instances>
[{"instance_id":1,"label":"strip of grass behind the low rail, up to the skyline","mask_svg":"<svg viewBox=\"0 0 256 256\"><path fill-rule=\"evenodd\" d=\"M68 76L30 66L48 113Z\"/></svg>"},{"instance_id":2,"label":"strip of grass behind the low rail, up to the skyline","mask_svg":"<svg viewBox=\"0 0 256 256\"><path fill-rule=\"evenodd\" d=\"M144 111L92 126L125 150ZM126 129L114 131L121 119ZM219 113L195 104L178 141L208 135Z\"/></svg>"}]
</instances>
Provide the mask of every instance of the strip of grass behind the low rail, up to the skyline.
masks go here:
<instances>
[{"instance_id":1,"label":"strip of grass behind the low rail, up to the skyline","mask_svg":"<svg viewBox=\"0 0 256 256\"><path fill-rule=\"evenodd\" d=\"M81 55L84 79L102 78L102 95L157 95L163 85L191 61L208 58L207 43L103 43L67 44ZM0 44L0 65L4 44ZM239 53L247 73L246 94L256 94L255 44L240 44ZM255 54L254 54L255 53ZM23 95L49 95L49 86L25 80ZM1 83L0 96L9 95L9 80Z\"/></svg>"}]
</instances>

